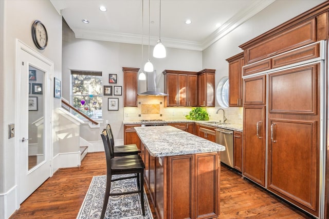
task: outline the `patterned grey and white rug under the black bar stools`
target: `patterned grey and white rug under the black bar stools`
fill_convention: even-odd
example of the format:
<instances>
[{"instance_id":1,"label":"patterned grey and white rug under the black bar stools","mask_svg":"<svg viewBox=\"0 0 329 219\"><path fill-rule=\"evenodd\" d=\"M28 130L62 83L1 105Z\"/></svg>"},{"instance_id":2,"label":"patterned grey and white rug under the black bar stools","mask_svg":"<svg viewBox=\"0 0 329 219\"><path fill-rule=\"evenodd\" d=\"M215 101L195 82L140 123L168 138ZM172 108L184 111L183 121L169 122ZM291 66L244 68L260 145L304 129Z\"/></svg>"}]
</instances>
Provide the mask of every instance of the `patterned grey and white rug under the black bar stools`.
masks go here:
<instances>
[{"instance_id":1,"label":"patterned grey and white rug under the black bar stools","mask_svg":"<svg viewBox=\"0 0 329 219\"><path fill-rule=\"evenodd\" d=\"M114 175L113 178L121 175ZM99 218L103 208L106 175L94 176L84 198L77 219ZM137 179L130 178L112 182L112 192L137 190ZM105 218L153 219L148 196L144 191L145 216L142 215L139 193L109 196Z\"/></svg>"}]
</instances>

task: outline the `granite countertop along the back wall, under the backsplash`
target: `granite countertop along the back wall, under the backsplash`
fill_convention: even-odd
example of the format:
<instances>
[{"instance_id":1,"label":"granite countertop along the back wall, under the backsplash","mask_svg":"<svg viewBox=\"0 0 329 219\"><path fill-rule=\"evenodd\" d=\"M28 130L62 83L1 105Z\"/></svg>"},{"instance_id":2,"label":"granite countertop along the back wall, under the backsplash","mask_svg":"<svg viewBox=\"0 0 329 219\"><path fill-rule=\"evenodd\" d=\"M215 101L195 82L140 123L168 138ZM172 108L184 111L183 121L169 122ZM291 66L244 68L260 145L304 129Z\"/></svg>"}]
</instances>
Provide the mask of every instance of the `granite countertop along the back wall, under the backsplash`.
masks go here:
<instances>
[{"instance_id":1,"label":"granite countertop along the back wall, under the backsplash","mask_svg":"<svg viewBox=\"0 0 329 219\"><path fill-rule=\"evenodd\" d=\"M163 124L163 123L198 123L198 124L202 124L202 125L207 125L207 126L212 126L215 128L224 128L224 129L229 129L232 131L243 131L243 127L242 124L210 124L209 122L218 122L218 121L194 121L194 120L187 120L187 119L177 119L177 120L163 120L163 121L152 121L152 122L141 122L140 120L137 121L128 121L128 120L124 120L123 121L123 125L134 125L134 124Z\"/></svg>"}]
</instances>

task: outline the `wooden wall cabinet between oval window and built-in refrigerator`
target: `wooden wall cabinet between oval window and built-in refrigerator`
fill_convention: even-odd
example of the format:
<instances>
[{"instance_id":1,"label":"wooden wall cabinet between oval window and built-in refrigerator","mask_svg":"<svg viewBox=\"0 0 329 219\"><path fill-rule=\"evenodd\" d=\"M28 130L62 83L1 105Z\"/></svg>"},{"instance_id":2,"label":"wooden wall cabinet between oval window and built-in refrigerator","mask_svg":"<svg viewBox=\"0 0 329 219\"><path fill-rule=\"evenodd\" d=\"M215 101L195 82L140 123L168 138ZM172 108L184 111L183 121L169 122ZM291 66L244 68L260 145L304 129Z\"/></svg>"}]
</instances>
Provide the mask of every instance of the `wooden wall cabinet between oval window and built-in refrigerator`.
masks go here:
<instances>
[{"instance_id":1,"label":"wooden wall cabinet between oval window and built-in refrigerator","mask_svg":"<svg viewBox=\"0 0 329 219\"><path fill-rule=\"evenodd\" d=\"M242 67L244 63L243 52L228 59L228 80L230 107L242 107Z\"/></svg>"}]
</instances>

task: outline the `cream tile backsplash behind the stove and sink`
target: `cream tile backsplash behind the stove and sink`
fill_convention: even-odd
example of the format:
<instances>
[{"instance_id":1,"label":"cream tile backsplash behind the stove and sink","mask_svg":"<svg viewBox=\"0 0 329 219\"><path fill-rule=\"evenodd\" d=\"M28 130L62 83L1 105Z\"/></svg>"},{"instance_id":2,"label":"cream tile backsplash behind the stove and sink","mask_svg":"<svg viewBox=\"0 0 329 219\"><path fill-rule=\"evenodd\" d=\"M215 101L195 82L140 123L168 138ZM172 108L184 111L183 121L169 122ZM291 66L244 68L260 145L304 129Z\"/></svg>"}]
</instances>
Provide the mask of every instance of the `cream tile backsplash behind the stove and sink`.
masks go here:
<instances>
[{"instance_id":1,"label":"cream tile backsplash behind the stove and sink","mask_svg":"<svg viewBox=\"0 0 329 219\"><path fill-rule=\"evenodd\" d=\"M194 107L165 107L163 96L138 96L138 107L124 107L125 121L136 120L175 120L184 119ZM216 111L223 107L205 107L209 120L223 121L223 111ZM242 107L223 108L227 123L242 125Z\"/></svg>"}]
</instances>

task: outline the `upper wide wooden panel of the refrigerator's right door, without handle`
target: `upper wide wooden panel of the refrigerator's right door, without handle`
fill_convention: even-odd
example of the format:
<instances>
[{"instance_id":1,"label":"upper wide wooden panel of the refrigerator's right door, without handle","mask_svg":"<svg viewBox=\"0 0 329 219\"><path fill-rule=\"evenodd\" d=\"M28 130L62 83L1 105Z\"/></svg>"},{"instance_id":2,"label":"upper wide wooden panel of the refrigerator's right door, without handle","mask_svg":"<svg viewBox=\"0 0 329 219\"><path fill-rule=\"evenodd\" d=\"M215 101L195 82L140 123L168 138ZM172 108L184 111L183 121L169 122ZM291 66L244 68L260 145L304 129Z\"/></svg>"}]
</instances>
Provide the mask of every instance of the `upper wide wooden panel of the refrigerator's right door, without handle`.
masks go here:
<instances>
[{"instance_id":1,"label":"upper wide wooden panel of the refrigerator's right door, without handle","mask_svg":"<svg viewBox=\"0 0 329 219\"><path fill-rule=\"evenodd\" d=\"M319 64L269 75L269 112L316 114Z\"/></svg>"}]
</instances>

